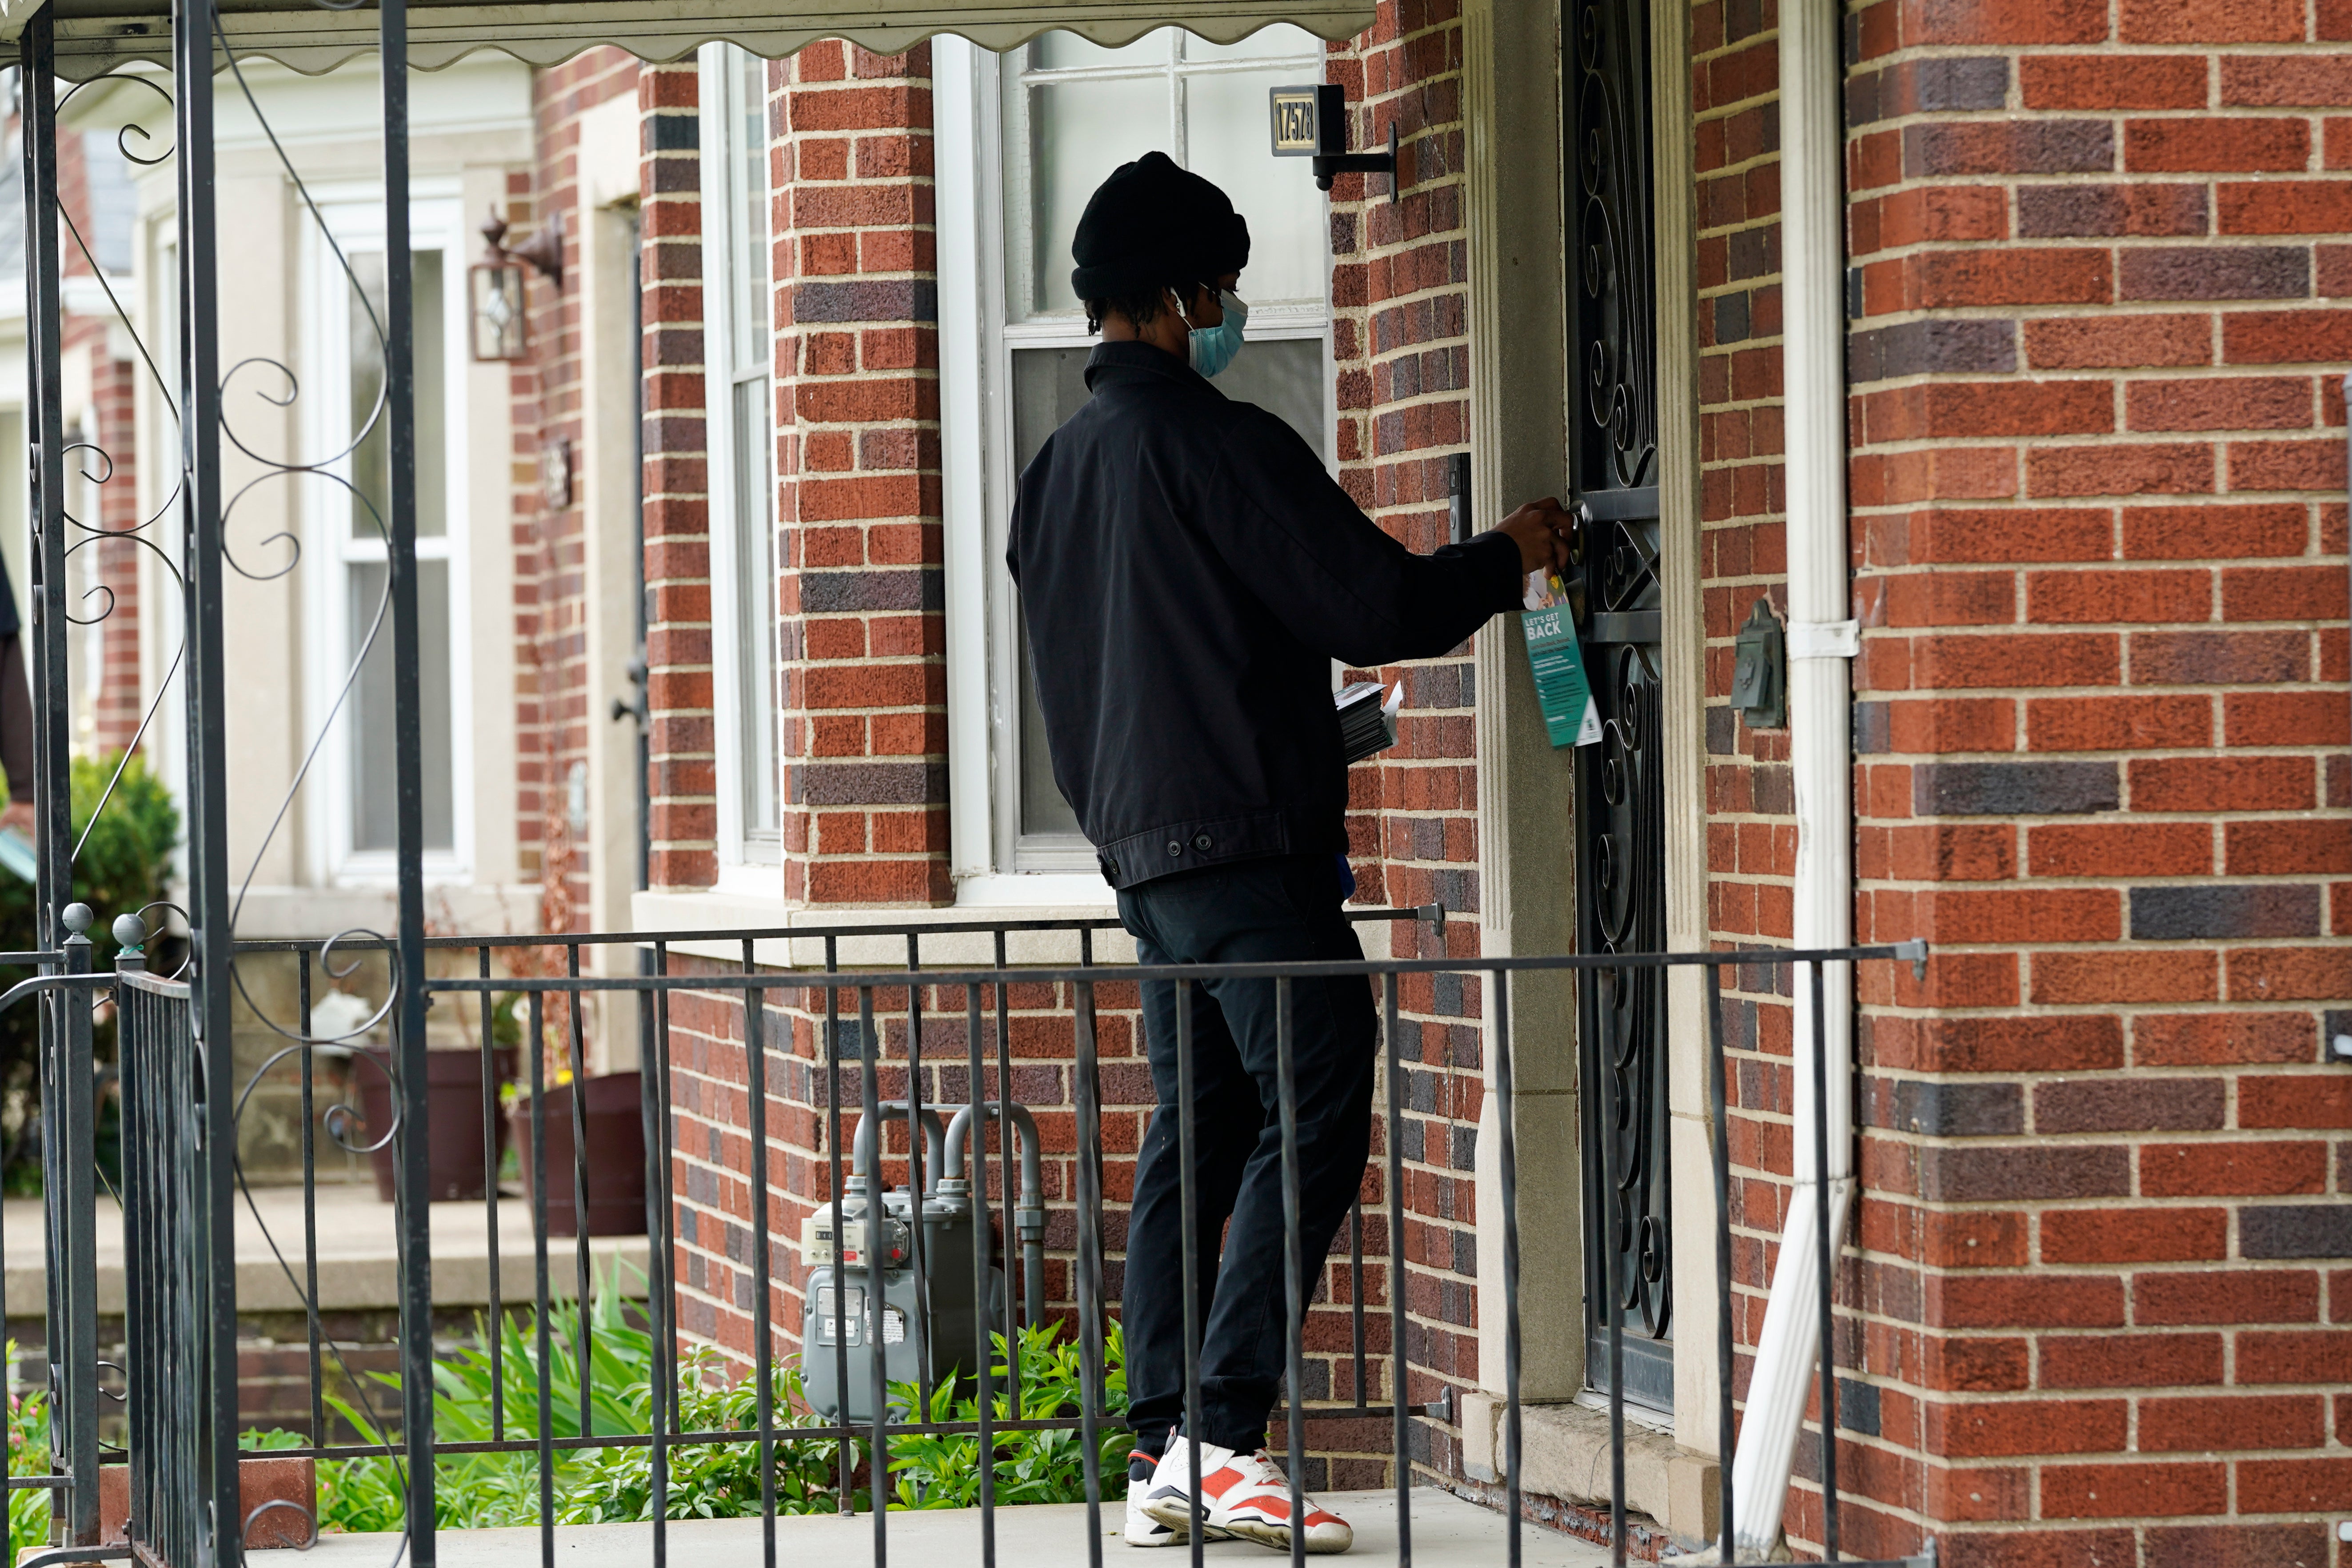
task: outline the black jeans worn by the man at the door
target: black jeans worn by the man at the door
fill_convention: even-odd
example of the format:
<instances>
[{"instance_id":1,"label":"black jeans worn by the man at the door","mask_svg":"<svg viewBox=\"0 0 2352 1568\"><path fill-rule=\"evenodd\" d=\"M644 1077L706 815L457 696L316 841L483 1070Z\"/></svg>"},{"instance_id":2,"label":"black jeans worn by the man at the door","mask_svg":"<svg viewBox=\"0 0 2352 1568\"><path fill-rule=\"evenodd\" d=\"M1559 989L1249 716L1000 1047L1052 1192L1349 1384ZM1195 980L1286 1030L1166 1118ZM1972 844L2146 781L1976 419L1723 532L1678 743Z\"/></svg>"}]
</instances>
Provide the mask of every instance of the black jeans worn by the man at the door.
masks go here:
<instances>
[{"instance_id":1,"label":"black jeans worn by the man at the door","mask_svg":"<svg viewBox=\"0 0 2352 1568\"><path fill-rule=\"evenodd\" d=\"M1145 964L1362 959L1329 856L1282 856L1183 872L1120 893ZM1183 1192L1176 1131L1176 985L1143 985L1143 1039L1160 1110L1136 1164L1127 1229L1129 1425L1160 1453L1183 1422ZM1362 976L1291 980L1298 1093L1298 1258L1303 1300L1364 1180L1376 1025ZM1254 1450L1282 1387L1289 1298L1282 1279L1282 1121L1275 983L1192 987L1192 1194L1200 1281L1200 1420L1188 1434ZM1228 1229L1225 1222L1232 1220ZM1218 1237L1225 1239L1223 1258Z\"/></svg>"}]
</instances>

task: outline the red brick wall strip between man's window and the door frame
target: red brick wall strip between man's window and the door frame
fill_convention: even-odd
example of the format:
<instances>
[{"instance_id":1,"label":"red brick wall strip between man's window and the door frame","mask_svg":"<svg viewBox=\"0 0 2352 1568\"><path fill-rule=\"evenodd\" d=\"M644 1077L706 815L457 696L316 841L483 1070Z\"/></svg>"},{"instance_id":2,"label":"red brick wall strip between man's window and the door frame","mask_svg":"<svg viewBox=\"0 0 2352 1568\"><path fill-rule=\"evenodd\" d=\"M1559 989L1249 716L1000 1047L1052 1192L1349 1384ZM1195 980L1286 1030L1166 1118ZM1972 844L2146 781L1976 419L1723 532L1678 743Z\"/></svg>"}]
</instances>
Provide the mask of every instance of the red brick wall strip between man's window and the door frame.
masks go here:
<instances>
[{"instance_id":1,"label":"red brick wall strip between man's window and the door frame","mask_svg":"<svg viewBox=\"0 0 2352 1568\"><path fill-rule=\"evenodd\" d=\"M1331 188L1331 313L1338 362L1341 484L1411 550L1446 543L1446 456L1470 444L1470 306L1463 216L1463 28L1454 0L1390 0L1369 33L1331 47L1327 80L1348 89L1350 146L1385 146L1395 125L1404 200L1388 179L1343 174ZM1244 280L1247 282L1247 280ZM1479 517L1479 527L1494 522ZM1357 903L1442 903L1446 950L1477 954L1477 665L1465 642L1442 658L1350 670L1404 682L1397 745L1348 771L1348 858ZM1442 957L1423 924L1359 929L1371 957ZM1479 987L1406 976L1399 1056L1411 1112L1404 1154L1404 1399L1439 1401L1477 1385L1477 1201L1472 1164L1484 1081ZM1385 1204L1383 1150L1367 1204ZM1385 1262L1388 1239L1367 1239ZM1367 1265L1367 1309L1388 1307L1385 1267ZM1334 1284L1345 1269L1334 1269ZM1343 1300L1334 1295L1334 1300ZM1390 1349L1385 1324L1376 1349ZM1388 1378L1388 1368L1376 1368ZM1388 1387L1367 1392L1390 1399ZM1458 1446L1430 1425L1425 1460L1458 1476ZM1374 1439L1383 1448L1383 1439ZM1371 1483L1371 1481L1359 1481Z\"/></svg>"}]
</instances>

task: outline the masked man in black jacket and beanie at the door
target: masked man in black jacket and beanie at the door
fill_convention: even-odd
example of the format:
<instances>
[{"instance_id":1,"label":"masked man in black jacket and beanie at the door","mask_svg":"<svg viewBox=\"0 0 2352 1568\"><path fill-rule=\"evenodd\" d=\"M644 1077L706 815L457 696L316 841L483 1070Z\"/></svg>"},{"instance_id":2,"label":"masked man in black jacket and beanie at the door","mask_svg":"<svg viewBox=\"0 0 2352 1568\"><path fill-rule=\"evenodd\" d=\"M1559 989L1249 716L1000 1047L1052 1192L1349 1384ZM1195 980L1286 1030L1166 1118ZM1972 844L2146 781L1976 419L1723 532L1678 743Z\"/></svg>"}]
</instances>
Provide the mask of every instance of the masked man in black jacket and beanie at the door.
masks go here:
<instances>
[{"instance_id":1,"label":"masked man in black jacket and beanie at the door","mask_svg":"<svg viewBox=\"0 0 2352 1568\"><path fill-rule=\"evenodd\" d=\"M1526 571L1564 562L1569 520L1541 501L1465 545L1411 555L1289 425L1209 386L1240 350L1249 230L1162 153L1094 193L1070 249L1103 334L1087 362L1094 397L1021 475L1007 548L1054 783L1145 964L1362 959L1341 912L1348 769L1331 661L1461 646L1519 602ZM1263 1453L1287 1340L1275 985L1190 994L1204 1324L1192 1420L1174 985L1143 987L1143 1020L1160 1112L1127 1237L1127 1540L1174 1544L1197 1523L1289 1549L1289 1483ZM1294 980L1289 1027L1312 1295L1369 1152L1371 987ZM1202 1450L1197 1502L1188 1441ZM1348 1549L1327 1509L1303 1523L1310 1552Z\"/></svg>"}]
</instances>

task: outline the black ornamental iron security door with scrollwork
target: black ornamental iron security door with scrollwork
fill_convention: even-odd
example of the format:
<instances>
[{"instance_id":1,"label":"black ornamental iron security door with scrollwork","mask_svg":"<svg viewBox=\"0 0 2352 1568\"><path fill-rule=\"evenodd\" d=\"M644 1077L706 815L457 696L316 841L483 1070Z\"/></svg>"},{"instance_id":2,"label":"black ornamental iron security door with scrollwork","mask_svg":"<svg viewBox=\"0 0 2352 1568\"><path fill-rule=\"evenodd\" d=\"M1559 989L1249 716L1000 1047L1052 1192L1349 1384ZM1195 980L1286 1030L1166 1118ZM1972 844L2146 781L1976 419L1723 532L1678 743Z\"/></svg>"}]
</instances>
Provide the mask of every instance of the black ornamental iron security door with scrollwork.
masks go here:
<instances>
[{"instance_id":1,"label":"black ornamental iron security door with scrollwork","mask_svg":"<svg viewBox=\"0 0 2352 1568\"><path fill-rule=\"evenodd\" d=\"M1578 642L1602 741L1576 752L1576 947L1665 950L1658 397L1646 0L1564 14L1569 477ZM1585 1380L1675 1403L1665 971L1578 983ZM1609 1359L1623 1314L1623 1366Z\"/></svg>"}]
</instances>

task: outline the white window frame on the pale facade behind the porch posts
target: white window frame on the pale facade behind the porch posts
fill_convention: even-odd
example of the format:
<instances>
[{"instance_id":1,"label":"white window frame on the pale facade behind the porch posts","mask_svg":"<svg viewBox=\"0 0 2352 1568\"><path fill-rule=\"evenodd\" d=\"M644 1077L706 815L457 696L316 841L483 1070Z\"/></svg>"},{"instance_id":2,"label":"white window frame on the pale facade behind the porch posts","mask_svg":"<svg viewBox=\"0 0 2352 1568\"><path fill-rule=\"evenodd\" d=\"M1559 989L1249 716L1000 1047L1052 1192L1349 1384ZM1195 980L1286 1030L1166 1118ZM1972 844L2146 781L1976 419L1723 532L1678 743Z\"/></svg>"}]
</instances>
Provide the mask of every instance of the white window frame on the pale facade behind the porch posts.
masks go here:
<instances>
[{"instance_id":1,"label":"white window frame on the pale facade behind the porch posts","mask_svg":"<svg viewBox=\"0 0 2352 1568\"><path fill-rule=\"evenodd\" d=\"M468 562L468 442L473 425L466 407L466 221L463 190L456 179L421 179L412 186L409 200L409 249L442 254L442 517L445 529L433 538L416 541L416 559L447 562L449 571L449 846L426 851L426 877L433 882L463 882L475 863L473 818L473 668L470 628L473 602ZM343 254L381 252L386 240L381 186L325 186L315 188L318 212ZM343 388L350 383L350 280L334 252L303 223L301 277L303 315L303 364L313 367L303 376L301 435L306 454L341 451L350 444ZM256 374L256 371L247 371ZM261 371L266 374L266 371ZM334 463L327 473L348 480L350 458ZM353 498L343 484L332 480L308 480L299 484L299 505L308 545L308 604L303 611L303 639L310 658L303 661L303 701L313 722L310 733L327 722L332 729L318 748L313 799L325 809L308 811L310 851L332 886L388 886L397 879L397 851L353 849L353 755L350 724L358 686L346 693L350 677L350 583L348 569L367 562L383 562L381 541L350 536ZM259 494L256 494L259 501ZM235 531L235 527L233 527ZM273 550L280 545L247 543L249 550ZM256 571L270 569L270 557L254 562ZM379 639L390 637L386 616Z\"/></svg>"}]
</instances>

